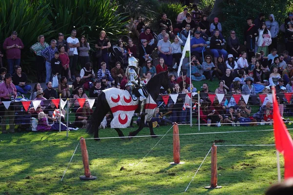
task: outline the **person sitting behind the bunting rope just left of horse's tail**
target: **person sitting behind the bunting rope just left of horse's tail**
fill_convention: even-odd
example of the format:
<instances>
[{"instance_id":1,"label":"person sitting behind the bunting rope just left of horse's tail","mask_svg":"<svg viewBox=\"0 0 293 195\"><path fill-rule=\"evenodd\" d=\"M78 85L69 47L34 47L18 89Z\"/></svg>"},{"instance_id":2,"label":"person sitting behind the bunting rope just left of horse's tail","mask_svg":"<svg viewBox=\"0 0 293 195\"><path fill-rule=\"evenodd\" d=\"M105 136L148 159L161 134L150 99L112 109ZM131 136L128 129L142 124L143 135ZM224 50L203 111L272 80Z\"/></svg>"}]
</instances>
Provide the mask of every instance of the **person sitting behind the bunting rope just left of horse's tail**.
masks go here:
<instances>
[{"instance_id":1,"label":"person sitting behind the bunting rope just left of horse's tail","mask_svg":"<svg viewBox=\"0 0 293 195\"><path fill-rule=\"evenodd\" d=\"M74 125L85 129L87 127L87 121L92 114L93 110L90 109L88 101L85 101L84 106L79 107L76 111Z\"/></svg>"}]
</instances>

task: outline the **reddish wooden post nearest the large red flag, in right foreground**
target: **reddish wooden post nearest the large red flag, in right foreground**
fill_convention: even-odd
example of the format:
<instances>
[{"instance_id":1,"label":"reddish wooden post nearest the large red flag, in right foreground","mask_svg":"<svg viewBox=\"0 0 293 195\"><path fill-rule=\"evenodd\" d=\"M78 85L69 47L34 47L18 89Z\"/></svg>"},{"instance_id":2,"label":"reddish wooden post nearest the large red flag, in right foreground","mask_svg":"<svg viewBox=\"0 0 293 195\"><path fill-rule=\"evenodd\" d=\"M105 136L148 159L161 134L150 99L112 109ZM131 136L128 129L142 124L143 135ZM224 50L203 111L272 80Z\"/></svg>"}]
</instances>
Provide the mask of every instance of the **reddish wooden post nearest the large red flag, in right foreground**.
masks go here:
<instances>
[{"instance_id":1,"label":"reddish wooden post nearest the large red flag, in right foreground","mask_svg":"<svg viewBox=\"0 0 293 195\"><path fill-rule=\"evenodd\" d=\"M211 146L211 174L210 174L210 186L206 186L206 189L217 189L222 188L222 186L218 186L218 177L217 177L217 146L215 143Z\"/></svg>"}]
</instances>

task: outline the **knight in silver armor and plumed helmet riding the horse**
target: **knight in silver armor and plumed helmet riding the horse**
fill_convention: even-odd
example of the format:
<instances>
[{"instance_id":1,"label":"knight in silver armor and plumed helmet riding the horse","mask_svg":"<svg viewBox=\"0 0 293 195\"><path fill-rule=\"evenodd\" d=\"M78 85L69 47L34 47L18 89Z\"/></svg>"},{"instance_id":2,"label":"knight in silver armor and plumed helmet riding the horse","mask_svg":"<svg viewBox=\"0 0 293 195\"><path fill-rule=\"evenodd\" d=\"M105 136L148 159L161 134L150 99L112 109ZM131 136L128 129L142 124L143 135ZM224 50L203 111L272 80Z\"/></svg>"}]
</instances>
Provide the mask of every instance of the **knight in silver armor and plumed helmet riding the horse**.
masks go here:
<instances>
[{"instance_id":1,"label":"knight in silver armor and plumed helmet riding the horse","mask_svg":"<svg viewBox=\"0 0 293 195\"><path fill-rule=\"evenodd\" d=\"M139 78L139 68L138 68L138 61L134 57L128 58L128 66L126 68L126 77L128 79L128 82L126 86L128 86L128 90L130 94L134 94L137 98L139 98L141 102L141 110L140 110L140 116L145 116L147 113L145 113L144 107L146 103L146 96L143 93L142 87L144 86L144 83L141 82Z\"/></svg>"}]
</instances>

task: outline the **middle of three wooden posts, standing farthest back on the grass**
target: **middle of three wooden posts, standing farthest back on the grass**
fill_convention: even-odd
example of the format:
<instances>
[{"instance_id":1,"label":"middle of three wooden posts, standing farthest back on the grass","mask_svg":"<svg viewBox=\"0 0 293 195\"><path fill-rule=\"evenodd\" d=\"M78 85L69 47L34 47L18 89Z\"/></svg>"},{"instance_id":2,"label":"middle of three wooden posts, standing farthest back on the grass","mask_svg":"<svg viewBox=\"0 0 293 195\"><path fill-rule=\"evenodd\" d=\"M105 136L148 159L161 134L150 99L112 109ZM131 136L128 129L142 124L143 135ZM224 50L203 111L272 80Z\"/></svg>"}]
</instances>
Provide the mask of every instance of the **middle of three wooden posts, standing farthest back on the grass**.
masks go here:
<instances>
[{"instance_id":1,"label":"middle of three wooden posts, standing farthest back on the grass","mask_svg":"<svg viewBox=\"0 0 293 195\"><path fill-rule=\"evenodd\" d=\"M179 140L179 128L178 124L174 122L173 126L173 160L170 164L184 164L180 162L180 140Z\"/></svg>"}]
</instances>

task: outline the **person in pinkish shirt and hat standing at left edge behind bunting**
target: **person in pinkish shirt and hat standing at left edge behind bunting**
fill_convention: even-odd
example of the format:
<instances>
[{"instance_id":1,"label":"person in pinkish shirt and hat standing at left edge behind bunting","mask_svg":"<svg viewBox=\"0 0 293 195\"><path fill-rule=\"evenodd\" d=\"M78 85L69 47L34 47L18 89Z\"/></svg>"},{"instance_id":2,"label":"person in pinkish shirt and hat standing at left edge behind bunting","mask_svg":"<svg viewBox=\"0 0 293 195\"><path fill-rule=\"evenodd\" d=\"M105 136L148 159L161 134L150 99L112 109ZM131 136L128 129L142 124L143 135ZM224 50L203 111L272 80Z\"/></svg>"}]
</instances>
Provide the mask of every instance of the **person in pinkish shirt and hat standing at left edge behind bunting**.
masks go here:
<instances>
[{"instance_id":1,"label":"person in pinkish shirt and hat standing at left edge behind bunting","mask_svg":"<svg viewBox=\"0 0 293 195\"><path fill-rule=\"evenodd\" d=\"M0 84L0 101L2 102L0 108L1 108L1 117L2 117L2 123L1 123L1 128L2 128L2 134L6 134L6 122L8 119L8 124L9 124L9 130L10 133L14 133L14 106L13 105L8 105L8 109L6 109L5 105L7 101L14 102L14 98L16 97L16 87L12 83L12 76L7 73L5 74L4 77L4 82ZM4 103L5 102L5 103Z\"/></svg>"}]
</instances>

